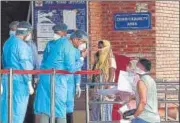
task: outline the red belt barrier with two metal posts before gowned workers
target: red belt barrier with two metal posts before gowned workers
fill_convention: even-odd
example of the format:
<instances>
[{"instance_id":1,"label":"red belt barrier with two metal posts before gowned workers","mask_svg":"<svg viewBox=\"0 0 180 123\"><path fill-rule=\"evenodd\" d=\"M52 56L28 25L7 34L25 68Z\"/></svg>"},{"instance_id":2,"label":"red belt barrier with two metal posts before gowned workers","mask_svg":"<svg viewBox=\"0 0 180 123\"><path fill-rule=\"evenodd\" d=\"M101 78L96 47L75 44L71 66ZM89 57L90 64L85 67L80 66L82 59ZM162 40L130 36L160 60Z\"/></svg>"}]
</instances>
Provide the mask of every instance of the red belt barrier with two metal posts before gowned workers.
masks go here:
<instances>
[{"instance_id":1,"label":"red belt barrier with two metal posts before gowned workers","mask_svg":"<svg viewBox=\"0 0 180 123\"><path fill-rule=\"evenodd\" d=\"M51 88L51 106L50 106L50 111L51 111L51 117L50 117L50 123L55 123L55 75L56 74L87 74L87 75L92 75L92 74L100 74L100 71L95 70L95 71L78 71L75 73L70 73L68 71L64 70L1 70L0 74L8 74L8 123L12 123L12 118L13 118L13 75L14 74L51 74L50 77L50 88ZM1 85L1 81L0 81ZM1 91L1 90L0 90ZM1 94L0 94L0 99L1 99ZM1 102L1 101L0 101ZM1 111L1 109L0 109ZM0 119L1 121L1 119Z\"/></svg>"}]
</instances>

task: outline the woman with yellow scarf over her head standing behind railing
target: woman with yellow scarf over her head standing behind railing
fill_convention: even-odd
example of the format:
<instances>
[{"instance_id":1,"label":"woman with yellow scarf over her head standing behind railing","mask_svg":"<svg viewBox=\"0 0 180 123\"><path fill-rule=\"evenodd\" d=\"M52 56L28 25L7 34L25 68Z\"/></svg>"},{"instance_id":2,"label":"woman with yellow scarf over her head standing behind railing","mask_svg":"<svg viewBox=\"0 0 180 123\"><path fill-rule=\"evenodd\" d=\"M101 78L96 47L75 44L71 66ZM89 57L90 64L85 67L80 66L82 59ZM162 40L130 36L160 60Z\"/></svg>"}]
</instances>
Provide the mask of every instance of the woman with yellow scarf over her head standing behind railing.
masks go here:
<instances>
[{"instance_id":1,"label":"woman with yellow scarf over her head standing behind railing","mask_svg":"<svg viewBox=\"0 0 180 123\"><path fill-rule=\"evenodd\" d=\"M95 54L95 63L93 70L102 71L102 82L114 82L116 62L112 52L111 44L107 40L98 42L98 51ZM94 75L93 82L100 82L100 76ZM104 88L111 88L111 86L104 86ZM97 91L97 88L94 88ZM99 96L92 96L93 100L99 100ZM103 97L104 101L113 101L112 97ZM100 105L93 104L91 108L91 121L112 121L112 104L104 104L100 113ZM103 116L103 117L101 117Z\"/></svg>"}]
</instances>

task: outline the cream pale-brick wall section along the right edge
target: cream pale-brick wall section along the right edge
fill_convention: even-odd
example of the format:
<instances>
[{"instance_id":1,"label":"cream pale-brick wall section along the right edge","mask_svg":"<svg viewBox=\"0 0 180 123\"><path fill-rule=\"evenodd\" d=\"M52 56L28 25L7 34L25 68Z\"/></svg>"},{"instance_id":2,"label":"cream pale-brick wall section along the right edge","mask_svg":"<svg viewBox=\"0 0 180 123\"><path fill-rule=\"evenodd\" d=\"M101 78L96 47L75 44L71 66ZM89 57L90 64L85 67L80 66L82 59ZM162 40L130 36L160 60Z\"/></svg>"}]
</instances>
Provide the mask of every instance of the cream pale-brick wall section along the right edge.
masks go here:
<instances>
[{"instance_id":1,"label":"cream pale-brick wall section along the right edge","mask_svg":"<svg viewBox=\"0 0 180 123\"><path fill-rule=\"evenodd\" d=\"M179 2L156 2L156 77L179 80Z\"/></svg>"}]
</instances>

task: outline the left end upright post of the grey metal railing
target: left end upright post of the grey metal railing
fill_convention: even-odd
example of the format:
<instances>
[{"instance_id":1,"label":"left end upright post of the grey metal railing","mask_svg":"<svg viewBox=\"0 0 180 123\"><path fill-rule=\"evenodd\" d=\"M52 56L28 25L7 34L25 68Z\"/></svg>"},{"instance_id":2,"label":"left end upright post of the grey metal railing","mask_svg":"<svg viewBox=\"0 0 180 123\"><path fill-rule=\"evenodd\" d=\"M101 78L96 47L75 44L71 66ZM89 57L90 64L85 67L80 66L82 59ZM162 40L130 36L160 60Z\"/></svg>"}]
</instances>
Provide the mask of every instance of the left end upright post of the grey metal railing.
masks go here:
<instances>
[{"instance_id":1,"label":"left end upright post of the grey metal railing","mask_svg":"<svg viewBox=\"0 0 180 123\"><path fill-rule=\"evenodd\" d=\"M89 85L86 84L86 123L89 121Z\"/></svg>"}]
</instances>

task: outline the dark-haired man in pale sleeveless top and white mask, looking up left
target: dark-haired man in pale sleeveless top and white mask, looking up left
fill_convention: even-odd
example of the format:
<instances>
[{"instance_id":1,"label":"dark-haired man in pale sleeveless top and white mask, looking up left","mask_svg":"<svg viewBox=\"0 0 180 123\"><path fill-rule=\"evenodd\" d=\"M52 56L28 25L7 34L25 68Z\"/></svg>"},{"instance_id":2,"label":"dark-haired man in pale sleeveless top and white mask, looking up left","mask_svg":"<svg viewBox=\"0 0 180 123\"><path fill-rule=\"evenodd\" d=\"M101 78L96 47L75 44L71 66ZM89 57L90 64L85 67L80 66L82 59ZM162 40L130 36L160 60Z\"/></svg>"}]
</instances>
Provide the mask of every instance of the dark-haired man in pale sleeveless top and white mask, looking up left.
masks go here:
<instances>
[{"instance_id":1,"label":"dark-haired man in pale sleeveless top and white mask, looking up left","mask_svg":"<svg viewBox=\"0 0 180 123\"><path fill-rule=\"evenodd\" d=\"M148 59L138 60L134 70L140 77L134 86L137 108L123 114L132 123L160 123L157 88L154 79L149 75L150 70L151 62Z\"/></svg>"}]
</instances>

